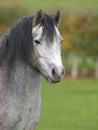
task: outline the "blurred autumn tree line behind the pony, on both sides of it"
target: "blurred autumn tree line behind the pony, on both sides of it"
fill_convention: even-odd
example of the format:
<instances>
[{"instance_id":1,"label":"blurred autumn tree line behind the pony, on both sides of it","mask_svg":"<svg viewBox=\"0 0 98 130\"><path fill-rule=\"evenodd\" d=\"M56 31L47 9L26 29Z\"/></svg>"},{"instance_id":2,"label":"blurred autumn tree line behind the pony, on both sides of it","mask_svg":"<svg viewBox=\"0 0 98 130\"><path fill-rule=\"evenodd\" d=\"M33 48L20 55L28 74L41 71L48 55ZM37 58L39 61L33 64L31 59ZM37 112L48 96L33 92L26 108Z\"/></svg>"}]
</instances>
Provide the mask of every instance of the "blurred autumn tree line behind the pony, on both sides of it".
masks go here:
<instances>
[{"instance_id":1,"label":"blurred autumn tree line behind the pony, on both sides of it","mask_svg":"<svg viewBox=\"0 0 98 130\"><path fill-rule=\"evenodd\" d=\"M0 34L5 32L20 16L30 14L27 10L16 5L10 8L0 8ZM73 78L76 78L80 72L84 76L87 75L87 69L90 68L89 65L87 66L88 61L88 64L93 66L93 76L98 78L97 24L97 10L63 10L60 24L60 31L64 38L62 44L63 60L67 72Z\"/></svg>"}]
</instances>

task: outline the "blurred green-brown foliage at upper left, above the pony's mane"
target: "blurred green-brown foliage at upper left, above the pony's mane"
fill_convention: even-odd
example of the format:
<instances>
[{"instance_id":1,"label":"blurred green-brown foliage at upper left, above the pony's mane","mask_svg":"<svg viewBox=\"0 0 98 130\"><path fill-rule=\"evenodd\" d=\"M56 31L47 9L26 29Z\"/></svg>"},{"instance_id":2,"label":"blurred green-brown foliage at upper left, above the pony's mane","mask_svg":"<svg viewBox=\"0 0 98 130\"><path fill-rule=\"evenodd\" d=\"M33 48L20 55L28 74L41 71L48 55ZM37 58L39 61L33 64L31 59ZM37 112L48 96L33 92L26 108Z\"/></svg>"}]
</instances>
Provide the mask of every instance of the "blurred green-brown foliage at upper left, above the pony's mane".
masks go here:
<instances>
[{"instance_id":1,"label":"blurred green-brown foliage at upper left, above the pony's mane","mask_svg":"<svg viewBox=\"0 0 98 130\"><path fill-rule=\"evenodd\" d=\"M8 28L20 16L26 15L27 11L19 7L0 8L0 30Z\"/></svg>"}]
</instances>

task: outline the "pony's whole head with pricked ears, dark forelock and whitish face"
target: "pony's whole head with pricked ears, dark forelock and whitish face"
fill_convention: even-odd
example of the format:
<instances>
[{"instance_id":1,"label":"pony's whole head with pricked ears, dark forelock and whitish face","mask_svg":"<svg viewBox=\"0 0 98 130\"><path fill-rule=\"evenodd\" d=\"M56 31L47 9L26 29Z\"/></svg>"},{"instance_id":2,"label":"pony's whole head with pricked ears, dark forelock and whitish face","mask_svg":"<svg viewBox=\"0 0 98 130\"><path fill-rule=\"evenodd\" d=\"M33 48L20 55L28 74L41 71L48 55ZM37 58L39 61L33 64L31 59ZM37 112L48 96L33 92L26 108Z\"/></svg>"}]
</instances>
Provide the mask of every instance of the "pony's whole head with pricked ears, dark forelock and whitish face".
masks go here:
<instances>
[{"instance_id":1,"label":"pony's whole head with pricked ears, dark forelock and whitish face","mask_svg":"<svg viewBox=\"0 0 98 130\"><path fill-rule=\"evenodd\" d=\"M36 13L32 22L33 50L36 67L51 82L59 82L64 76L61 61L63 38L58 30L60 11L54 15Z\"/></svg>"}]
</instances>

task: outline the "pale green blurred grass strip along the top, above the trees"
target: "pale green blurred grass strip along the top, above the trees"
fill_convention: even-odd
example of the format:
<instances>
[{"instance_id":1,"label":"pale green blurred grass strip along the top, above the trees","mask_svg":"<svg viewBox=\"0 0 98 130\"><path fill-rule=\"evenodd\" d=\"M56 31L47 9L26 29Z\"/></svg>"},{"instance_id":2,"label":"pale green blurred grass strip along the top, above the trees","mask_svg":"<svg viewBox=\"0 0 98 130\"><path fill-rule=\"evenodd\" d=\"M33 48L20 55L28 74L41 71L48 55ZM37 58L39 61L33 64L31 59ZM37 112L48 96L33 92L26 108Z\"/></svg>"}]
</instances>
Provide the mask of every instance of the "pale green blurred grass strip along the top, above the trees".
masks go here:
<instances>
[{"instance_id":1,"label":"pale green blurred grass strip along the top, above the trees","mask_svg":"<svg viewBox=\"0 0 98 130\"><path fill-rule=\"evenodd\" d=\"M58 9L58 8L98 8L98 0L0 0L0 5L6 5L17 1L20 6L30 10L36 9Z\"/></svg>"}]
</instances>

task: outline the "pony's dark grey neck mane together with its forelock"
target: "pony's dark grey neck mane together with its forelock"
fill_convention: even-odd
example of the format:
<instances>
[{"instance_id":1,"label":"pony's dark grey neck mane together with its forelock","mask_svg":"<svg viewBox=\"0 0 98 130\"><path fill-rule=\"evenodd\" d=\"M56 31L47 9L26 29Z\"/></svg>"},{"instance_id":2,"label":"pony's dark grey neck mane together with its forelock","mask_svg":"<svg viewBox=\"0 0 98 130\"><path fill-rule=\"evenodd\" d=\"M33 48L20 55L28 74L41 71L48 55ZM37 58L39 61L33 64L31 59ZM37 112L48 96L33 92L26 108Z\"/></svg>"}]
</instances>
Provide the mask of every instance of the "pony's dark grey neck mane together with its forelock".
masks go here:
<instances>
[{"instance_id":1,"label":"pony's dark grey neck mane together with its forelock","mask_svg":"<svg viewBox=\"0 0 98 130\"><path fill-rule=\"evenodd\" d=\"M34 16L21 18L3 37L0 45L0 66L4 61L9 65L17 60L28 62L33 51L33 19ZM40 24L43 26L43 35L47 35L47 38L52 41L55 33L52 16L43 14Z\"/></svg>"}]
</instances>

